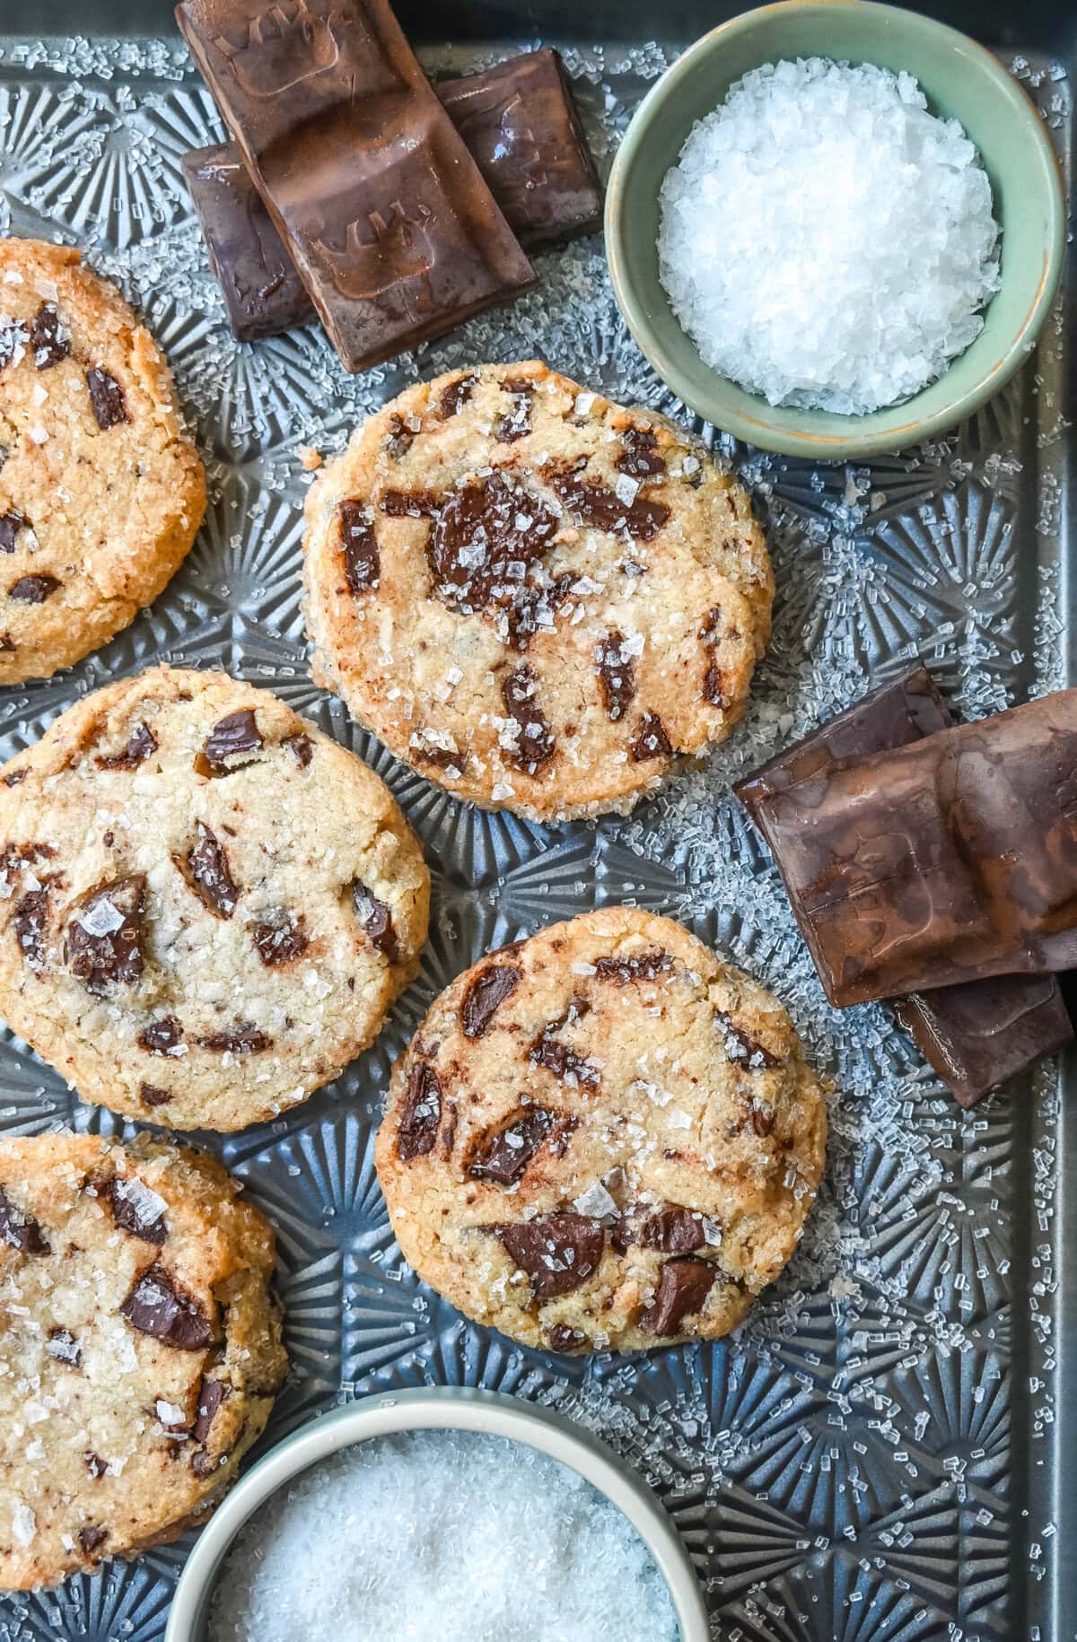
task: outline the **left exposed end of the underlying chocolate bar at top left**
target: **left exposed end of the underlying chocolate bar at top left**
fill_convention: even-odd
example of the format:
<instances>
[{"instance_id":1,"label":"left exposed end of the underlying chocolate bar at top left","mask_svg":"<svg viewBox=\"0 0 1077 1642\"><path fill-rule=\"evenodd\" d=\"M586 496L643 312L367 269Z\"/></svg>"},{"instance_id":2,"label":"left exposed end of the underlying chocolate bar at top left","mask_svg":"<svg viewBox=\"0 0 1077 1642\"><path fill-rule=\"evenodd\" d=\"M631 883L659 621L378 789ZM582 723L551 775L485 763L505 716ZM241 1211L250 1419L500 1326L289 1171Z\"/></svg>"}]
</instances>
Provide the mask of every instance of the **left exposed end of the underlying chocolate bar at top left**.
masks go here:
<instances>
[{"instance_id":1,"label":"left exposed end of the underlying chocolate bar at top left","mask_svg":"<svg viewBox=\"0 0 1077 1642\"><path fill-rule=\"evenodd\" d=\"M314 304L235 143L184 154L184 172L240 342L309 325Z\"/></svg>"}]
</instances>

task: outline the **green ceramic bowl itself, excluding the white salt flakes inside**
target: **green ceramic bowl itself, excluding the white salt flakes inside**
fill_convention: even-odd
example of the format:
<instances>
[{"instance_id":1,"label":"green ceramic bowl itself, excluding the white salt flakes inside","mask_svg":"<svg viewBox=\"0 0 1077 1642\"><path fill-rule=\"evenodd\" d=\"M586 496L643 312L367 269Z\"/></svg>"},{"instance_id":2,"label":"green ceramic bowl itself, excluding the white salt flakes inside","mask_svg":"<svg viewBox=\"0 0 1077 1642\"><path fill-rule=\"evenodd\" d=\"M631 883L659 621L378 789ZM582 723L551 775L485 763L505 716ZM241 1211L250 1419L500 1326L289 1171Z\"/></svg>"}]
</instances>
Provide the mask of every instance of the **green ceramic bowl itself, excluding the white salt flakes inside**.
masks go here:
<instances>
[{"instance_id":1,"label":"green ceramic bowl itself, excluding the white salt flakes inside","mask_svg":"<svg viewBox=\"0 0 1077 1642\"><path fill-rule=\"evenodd\" d=\"M714 406L706 404L704 394L694 392L691 381L681 376L676 365L662 346L662 342L653 335L645 317L645 304L632 282L632 276L629 273L630 256L627 253L626 212L622 209L626 177L657 110L676 95L681 79L694 67L699 57L711 54L722 39L729 39L734 34L757 33L765 28L775 15L790 15L791 11L804 15L834 15L839 11L844 13L850 7L855 7L857 11L872 13L883 23L890 21L891 26L893 20L900 20L896 26L919 30L923 34L937 39L939 44L960 49L967 56L975 57L982 72L992 82L995 92L1005 99L1015 117L1021 122L1029 143L1038 151L1039 164L1046 179L1046 194L1049 199L1049 220L1039 284L1033 302L1021 320L1021 327L1006 345L1005 353L997 358L993 365L985 368L983 374L972 388L967 388L962 394L951 397L931 415L901 420L903 412L914 407L918 397L914 394L901 404L890 407L883 406L880 409L878 414L891 414L898 419L895 424L885 427L875 427L872 430L864 430L860 427L860 430L857 430L864 419L849 417L847 432L798 432L768 419L768 409L777 410L780 409L778 406L768 407L762 396L752 396L758 402L758 415L745 415L740 410L731 409L722 410L721 420L716 420ZM740 438L749 445L755 445L760 450L770 450L786 456L808 456L819 461L847 461L864 456L888 455L903 450L908 445L916 445L921 440L933 438L937 433L944 433L957 422L978 410L988 399L1005 388L1013 373L1029 356L1033 346L1036 345L1036 338L1039 337L1059 292L1066 264L1066 186L1062 179L1062 167L1054 148L1051 146L1047 130L1024 87L1010 74L998 57L988 51L987 46L982 46L977 39L972 39L970 34L952 28L949 23L941 23L919 11L910 11L905 7L883 5L880 0L770 0L768 5L740 11L737 16L708 30L706 34L701 34L699 39L693 41L693 44L670 64L670 67L647 92L645 99L632 115L629 128L617 146L617 153L614 154L609 182L606 186L604 240L606 259L621 315L640 351L655 368L667 388L676 394L683 404L694 410L696 415L711 422L714 427L732 433L736 438ZM739 386L734 384L731 378L722 378L717 371L713 371L713 376L719 383L729 381L731 386ZM936 381L946 381L946 374L942 378L936 378ZM747 389L742 389L742 392L747 392Z\"/></svg>"}]
</instances>

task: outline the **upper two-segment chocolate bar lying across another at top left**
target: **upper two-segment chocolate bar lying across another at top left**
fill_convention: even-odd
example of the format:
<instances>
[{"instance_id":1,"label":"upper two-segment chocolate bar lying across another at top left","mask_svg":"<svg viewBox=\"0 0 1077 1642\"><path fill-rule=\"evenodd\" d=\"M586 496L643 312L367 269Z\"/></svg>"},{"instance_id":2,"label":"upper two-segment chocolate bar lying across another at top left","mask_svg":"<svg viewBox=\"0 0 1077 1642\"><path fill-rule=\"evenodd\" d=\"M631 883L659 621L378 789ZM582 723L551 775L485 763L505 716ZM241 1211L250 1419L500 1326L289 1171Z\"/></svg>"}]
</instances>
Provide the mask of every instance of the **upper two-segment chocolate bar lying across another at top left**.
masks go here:
<instances>
[{"instance_id":1,"label":"upper two-segment chocolate bar lying across another at top left","mask_svg":"<svg viewBox=\"0 0 1077 1642\"><path fill-rule=\"evenodd\" d=\"M534 284L386 0L182 0L176 18L346 369Z\"/></svg>"}]
</instances>

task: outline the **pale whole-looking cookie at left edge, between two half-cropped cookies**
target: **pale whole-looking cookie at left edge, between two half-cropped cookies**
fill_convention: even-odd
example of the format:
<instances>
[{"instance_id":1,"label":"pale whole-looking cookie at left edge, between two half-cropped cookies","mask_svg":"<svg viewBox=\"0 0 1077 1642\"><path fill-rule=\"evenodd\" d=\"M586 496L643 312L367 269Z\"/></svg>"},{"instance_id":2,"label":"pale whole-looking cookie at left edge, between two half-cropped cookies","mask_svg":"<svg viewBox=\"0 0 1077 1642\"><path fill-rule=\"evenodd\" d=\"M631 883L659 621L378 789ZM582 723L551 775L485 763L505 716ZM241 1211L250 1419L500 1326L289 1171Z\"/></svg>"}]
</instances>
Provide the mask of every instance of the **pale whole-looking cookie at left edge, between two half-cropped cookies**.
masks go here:
<instances>
[{"instance_id":1,"label":"pale whole-looking cookie at left edge, between two half-cropped cookies","mask_svg":"<svg viewBox=\"0 0 1077 1642\"><path fill-rule=\"evenodd\" d=\"M0 772L0 1015L130 1117L305 1100L415 974L429 895L373 770L225 673L110 685Z\"/></svg>"}]
</instances>

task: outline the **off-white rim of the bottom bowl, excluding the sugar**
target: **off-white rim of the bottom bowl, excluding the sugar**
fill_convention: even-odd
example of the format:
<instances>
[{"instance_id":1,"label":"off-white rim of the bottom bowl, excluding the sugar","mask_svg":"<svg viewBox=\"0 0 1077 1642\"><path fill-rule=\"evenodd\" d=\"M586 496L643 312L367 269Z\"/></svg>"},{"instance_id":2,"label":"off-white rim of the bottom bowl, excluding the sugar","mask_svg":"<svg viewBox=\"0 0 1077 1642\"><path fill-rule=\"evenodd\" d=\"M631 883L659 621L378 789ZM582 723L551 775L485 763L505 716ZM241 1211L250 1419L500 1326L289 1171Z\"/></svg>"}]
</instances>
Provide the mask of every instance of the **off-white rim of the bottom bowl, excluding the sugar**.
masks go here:
<instances>
[{"instance_id":1,"label":"off-white rim of the bottom bowl, excluding the sugar","mask_svg":"<svg viewBox=\"0 0 1077 1642\"><path fill-rule=\"evenodd\" d=\"M271 1448L225 1496L187 1558L164 1642L202 1642L209 1598L236 1534L282 1484L341 1448L410 1430L466 1430L525 1443L604 1494L658 1565L681 1642L709 1642L708 1608L688 1550L657 1494L612 1448L565 1415L502 1391L429 1386L381 1392L322 1414Z\"/></svg>"}]
</instances>

